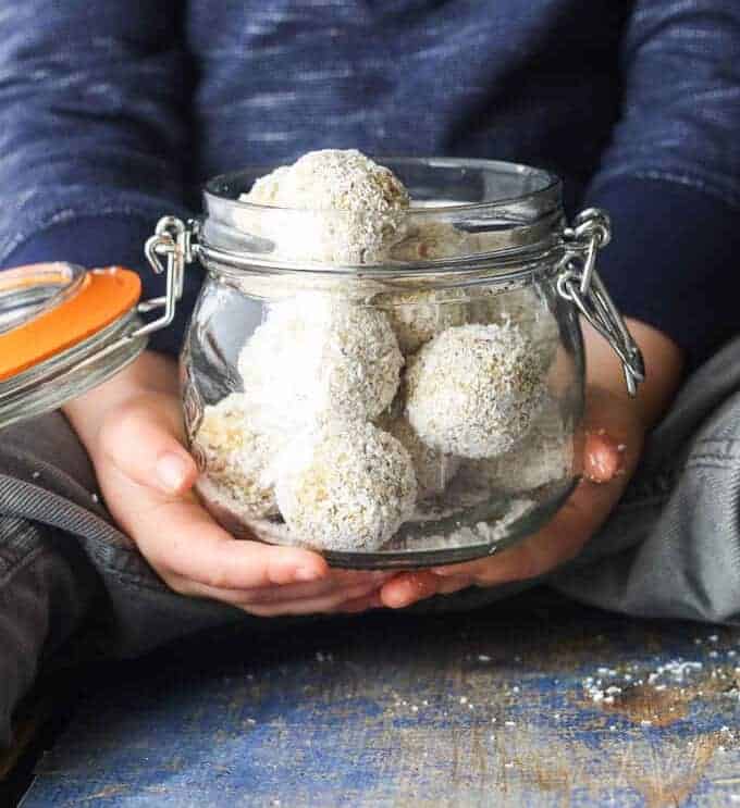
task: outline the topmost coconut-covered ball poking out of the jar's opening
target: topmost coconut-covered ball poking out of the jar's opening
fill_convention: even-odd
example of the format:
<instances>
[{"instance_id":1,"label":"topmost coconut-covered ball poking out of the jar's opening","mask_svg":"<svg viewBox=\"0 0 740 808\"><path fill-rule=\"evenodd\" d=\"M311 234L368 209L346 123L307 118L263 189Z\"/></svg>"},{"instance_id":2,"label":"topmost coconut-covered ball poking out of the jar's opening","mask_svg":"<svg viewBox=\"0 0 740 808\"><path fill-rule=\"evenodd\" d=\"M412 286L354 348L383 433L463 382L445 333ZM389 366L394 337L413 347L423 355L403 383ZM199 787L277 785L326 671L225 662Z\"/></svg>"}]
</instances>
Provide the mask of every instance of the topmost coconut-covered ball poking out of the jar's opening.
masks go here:
<instances>
[{"instance_id":1,"label":"topmost coconut-covered ball poking out of the jar's opening","mask_svg":"<svg viewBox=\"0 0 740 808\"><path fill-rule=\"evenodd\" d=\"M257 179L239 200L287 209L243 212L242 223L274 241L276 254L334 264L385 260L403 238L409 207L398 177L356 149L310 151Z\"/></svg>"}]
</instances>

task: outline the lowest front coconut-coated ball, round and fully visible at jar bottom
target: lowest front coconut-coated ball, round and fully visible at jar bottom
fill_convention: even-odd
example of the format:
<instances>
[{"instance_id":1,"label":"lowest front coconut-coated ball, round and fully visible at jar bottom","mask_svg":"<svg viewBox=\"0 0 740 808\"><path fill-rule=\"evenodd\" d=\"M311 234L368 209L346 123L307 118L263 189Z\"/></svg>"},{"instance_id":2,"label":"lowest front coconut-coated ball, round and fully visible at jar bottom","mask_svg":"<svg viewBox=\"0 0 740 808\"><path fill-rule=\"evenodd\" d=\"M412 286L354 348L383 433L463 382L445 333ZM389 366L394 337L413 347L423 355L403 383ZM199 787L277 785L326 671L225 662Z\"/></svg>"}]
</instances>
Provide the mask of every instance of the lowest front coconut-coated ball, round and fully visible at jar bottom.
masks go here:
<instances>
[{"instance_id":1,"label":"lowest front coconut-coated ball, round and fully visible at jar bottom","mask_svg":"<svg viewBox=\"0 0 740 808\"><path fill-rule=\"evenodd\" d=\"M404 447L369 423L331 422L279 458L278 505L291 533L324 550L377 550L414 511Z\"/></svg>"}]
</instances>

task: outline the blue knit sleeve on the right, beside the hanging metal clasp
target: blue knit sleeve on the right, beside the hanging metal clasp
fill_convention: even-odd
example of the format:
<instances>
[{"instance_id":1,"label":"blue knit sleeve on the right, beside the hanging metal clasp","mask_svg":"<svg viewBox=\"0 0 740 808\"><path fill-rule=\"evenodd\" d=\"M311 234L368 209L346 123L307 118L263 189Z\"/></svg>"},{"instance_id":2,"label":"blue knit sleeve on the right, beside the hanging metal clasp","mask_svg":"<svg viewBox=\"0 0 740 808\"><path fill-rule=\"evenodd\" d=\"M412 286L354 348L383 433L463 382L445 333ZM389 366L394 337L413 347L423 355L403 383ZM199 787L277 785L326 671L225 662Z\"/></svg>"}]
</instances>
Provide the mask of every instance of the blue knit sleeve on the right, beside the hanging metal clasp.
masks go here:
<instances>
[{"instance_id":1,"label":"blue knit sleeve on the right, beside the hanging metal clasp","mask_svg":"<svg viewBox=\"0 0 740 808\"><path fill-rule=\"evenodd\" d=\"M695 364L740 330L740 3L638 0L622 69L588 192L614 220L601 270Z\"/></svg>"}]
</instances>

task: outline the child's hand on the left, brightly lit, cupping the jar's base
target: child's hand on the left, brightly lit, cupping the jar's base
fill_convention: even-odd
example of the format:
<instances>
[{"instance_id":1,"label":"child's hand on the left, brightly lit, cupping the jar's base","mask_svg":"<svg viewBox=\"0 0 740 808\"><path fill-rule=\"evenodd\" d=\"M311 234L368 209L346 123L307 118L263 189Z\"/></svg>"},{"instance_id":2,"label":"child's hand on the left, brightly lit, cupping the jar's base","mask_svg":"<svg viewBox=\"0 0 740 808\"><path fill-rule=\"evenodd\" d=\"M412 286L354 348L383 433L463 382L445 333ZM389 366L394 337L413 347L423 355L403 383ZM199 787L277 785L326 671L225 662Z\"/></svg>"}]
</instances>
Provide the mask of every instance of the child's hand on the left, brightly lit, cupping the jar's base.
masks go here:
<instances>
[{"instance_id":1,"label":"child's hand on the left, brightly lit, cupping the jar's base","mask_svg":"<svg viewBox=\"0 0 740 808\"><path fill-rule=\"evenodd\" d=\"M317 554L236 540L199 505L182 445L173 361L144 353L65 406L111 514L175 592L251 614L308 614L379 605L387 573L332 571Z\"/></svg>"}]
</instances>

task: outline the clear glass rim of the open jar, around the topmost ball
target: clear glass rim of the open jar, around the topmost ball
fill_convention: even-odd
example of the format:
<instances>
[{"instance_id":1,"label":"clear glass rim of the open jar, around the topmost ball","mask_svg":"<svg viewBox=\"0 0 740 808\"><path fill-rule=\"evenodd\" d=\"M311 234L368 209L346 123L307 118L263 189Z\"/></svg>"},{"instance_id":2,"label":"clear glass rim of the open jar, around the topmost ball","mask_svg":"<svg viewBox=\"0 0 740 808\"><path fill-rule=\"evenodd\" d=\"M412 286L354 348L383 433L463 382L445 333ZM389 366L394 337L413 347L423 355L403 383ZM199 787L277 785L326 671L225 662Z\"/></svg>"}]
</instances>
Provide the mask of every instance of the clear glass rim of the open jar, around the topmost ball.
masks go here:
<instances>
[{"instance_id":1,"label":"clear glass rim of the open jar, around the topmost ball","mask_svg":"<svg viewBox=\"0 0 740 808\"><path fill-rule=\"evenodd\" d=\"M383 275L427 268L448 271L481 261L495 270L522 257L539 260L560 240L563 185L552 172L478 158L378 160L398 175L412 203L379 213L375 220L371 212L299 210L240 199L269 167L213 177L203 188L205 213L198 223L201 262L214 272ZM362 224L370 232L385 233L388 225L391 237L374 254L348 257L341 243L334 250L335 234L349 232L358 215L368 217ZM436 239L431 250L430 239ZM325 244L330 249L324 250Z\"/></svg>"}]
</instances>

